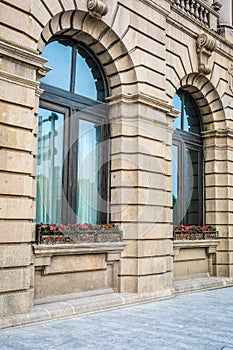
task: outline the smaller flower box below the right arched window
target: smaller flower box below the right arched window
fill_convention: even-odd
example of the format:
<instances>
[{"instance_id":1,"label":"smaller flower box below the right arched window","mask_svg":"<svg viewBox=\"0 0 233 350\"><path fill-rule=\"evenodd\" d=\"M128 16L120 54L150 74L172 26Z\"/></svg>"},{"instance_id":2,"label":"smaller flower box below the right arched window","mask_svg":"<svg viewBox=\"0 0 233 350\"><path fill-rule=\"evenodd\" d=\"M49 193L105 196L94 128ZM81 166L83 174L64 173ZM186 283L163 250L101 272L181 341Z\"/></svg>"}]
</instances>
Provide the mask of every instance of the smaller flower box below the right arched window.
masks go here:
<instances>
[{"instance_id":1,"label":"smaller flower box below the right arched window","mask_svg":"<svg viewBox=\"0 0 233 350\"><path fill-rule=\"evenodd\" d=\"M184 226L178 225L173 229L174 240L203 240L218 239L218 231L212 225Z\"/></svg>"}]
</instances>

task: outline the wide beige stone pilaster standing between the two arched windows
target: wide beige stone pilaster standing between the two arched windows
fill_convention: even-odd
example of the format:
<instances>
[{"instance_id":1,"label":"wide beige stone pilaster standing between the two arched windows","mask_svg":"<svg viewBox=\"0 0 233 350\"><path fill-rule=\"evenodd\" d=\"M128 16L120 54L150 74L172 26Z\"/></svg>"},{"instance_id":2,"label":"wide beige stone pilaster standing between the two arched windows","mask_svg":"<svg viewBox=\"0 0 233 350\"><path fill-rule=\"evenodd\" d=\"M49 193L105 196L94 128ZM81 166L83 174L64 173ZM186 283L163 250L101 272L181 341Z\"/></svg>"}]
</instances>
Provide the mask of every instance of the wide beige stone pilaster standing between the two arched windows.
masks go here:
<instances>
[{"instance_id":1,"label":"wide beige stone pilaster standing between the two arched windows","mask_svg":"<svg viewBox=\"0 0 233 350\"><path fill-rule=\"evenodd\" d=\"M154 97L110 100L111 220L124 229L127 246L121 292L168 295L172 286L172 106Z\"/></svg>"}]
</instances>

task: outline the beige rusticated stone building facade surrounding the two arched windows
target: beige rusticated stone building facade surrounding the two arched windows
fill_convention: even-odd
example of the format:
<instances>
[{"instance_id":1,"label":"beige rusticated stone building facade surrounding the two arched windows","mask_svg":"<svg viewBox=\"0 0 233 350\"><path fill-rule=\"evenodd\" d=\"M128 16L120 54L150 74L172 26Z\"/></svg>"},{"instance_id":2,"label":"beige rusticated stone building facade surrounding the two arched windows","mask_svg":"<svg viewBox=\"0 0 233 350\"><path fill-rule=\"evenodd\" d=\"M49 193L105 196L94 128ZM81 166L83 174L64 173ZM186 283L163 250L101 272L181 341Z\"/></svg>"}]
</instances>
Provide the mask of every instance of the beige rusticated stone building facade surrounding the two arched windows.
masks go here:
<instances>
[{"instance_id":1,"label":"beige rusticated stone building facade surrounding the two arched windows","mask_svg":"<svg viewBox=\"0 0 233 350\"><path fill-rule=\"evenodd\" d=\"M124 232L118 292L172 294L177 91L191 96L201 118L202 224L219 231L212 273L233 277L232 1L219 2L222 7L212 0L1 1L1 317L33 307L38 266L52 254L35 258L35 178L40 80L50 71L43 52L61 36L88 48L108 86L106 220ZM95 288L101 286L93 282L83 290Z\"/></svg>"}]
</instances>

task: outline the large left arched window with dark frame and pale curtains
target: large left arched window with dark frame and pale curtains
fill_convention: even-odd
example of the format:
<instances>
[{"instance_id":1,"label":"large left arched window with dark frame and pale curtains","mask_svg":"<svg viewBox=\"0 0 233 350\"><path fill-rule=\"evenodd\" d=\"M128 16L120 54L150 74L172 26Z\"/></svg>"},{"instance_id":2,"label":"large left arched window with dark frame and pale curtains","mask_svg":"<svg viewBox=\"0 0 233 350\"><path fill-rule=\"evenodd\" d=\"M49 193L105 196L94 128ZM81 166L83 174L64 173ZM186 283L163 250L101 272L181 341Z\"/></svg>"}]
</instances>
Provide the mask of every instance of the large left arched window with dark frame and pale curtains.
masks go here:
<instances>
[{"instance_id":1,"label":"large left arched window with dark frame and pale curtains","mask_svg":"<svg viewBox=\"0 0 233 350\"><path fill-rule=\"evenodd\" d=\"M106 222L107 85L95 56L67 38L44 49L38 113L38 223Z\"/></svg>"}]
</instances>

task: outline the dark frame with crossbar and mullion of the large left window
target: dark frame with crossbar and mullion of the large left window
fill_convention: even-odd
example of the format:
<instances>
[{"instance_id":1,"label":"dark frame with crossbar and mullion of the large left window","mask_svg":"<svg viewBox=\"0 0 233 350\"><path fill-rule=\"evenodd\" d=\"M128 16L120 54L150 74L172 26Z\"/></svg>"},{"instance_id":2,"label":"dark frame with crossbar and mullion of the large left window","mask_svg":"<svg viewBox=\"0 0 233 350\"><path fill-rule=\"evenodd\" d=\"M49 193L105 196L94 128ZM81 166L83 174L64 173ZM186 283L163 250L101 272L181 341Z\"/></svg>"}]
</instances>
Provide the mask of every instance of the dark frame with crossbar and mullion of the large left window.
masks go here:
<instances>
[{"instance_id":1,"label":"dark frame with crossbar and mullion of the large left window","mask_svg":"<svg viewBox=\"0 0 233 350\"><path fill-rule=\"evenodd\" d=\"M58 41L59 38L54 38L51 41ZM50 42L51 42L50 41ZM68 40L75 48L81 46L88 54L94 59L95 64L99 68L101 78L104 85L105 98L108 96L107 82L103 74L98 60L90 53L85 45ZM75 50L73 49L73 52ZM75 55L77 56L77 55ZM72 61L71 75L75 76L76 71L74 68L75 60ZM71 89L74 91L74 83L72 77L70 77ZM63 139L63 166L62 166L62 205L61 205L61 222L63 224L76 223L76 212L78 203L77 194L77 174L78 174L78 135L79 135L79 120L84 119L96 123L101 126L101 164L103 166L100 169L100 186L101 200L100 208L97 210L98 223L106 223L109 221L109 140L110 140L110 128L109 119L106 111L105 103L99 100L93 100L85 96L75 94L68 90L60 89L59 87L40 83L43 93L40 97L40 108L54 111L55 113L64 114L64 139ZM98 92L97 92L98 94ZM76 115L74 117L74 114ZM73 210L70 210L69 206Z\"/></svg>"}]
</instances>

